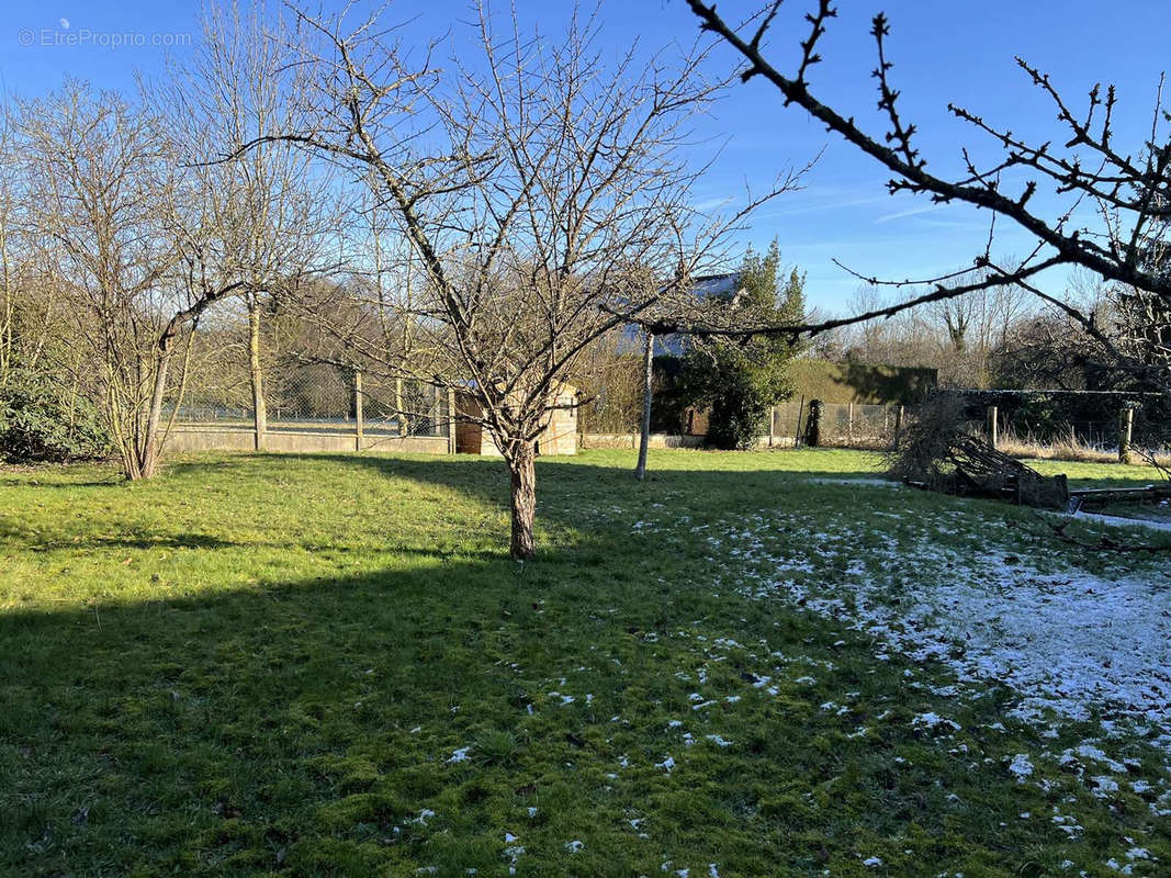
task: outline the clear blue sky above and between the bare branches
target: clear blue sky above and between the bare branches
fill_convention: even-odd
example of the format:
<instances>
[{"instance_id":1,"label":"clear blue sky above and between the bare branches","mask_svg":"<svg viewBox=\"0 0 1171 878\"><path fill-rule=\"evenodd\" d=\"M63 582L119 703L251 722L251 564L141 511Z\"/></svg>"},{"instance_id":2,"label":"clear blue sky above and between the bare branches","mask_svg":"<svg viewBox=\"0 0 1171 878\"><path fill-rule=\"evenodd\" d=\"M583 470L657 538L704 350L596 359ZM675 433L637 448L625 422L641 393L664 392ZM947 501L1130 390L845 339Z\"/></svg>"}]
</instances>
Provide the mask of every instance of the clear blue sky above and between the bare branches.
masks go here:
<instances>
[{"instance_id":1,"label":"clear blue sky above and between the bare branches","mask_svg":"<svg viewBox=\"0 0 1171 878\"><path fill-rule=\"evenodd\" d=\"M516 0L522 20L555 34L569 8L568 0ZM326 0L327 7L329 0ZM728 18L742 16L759 4L723 0ZM497 4L501 9L502 2ZM796 41L803 36L800 16L812 0L788 0L773 35L771 54L792 69ZM903 90L908 118L920 128L919 146L937 172L956 171L960 148L991 156L985 138L947 114L949 101L1004 123L1014 132L1055 138L1052 108L1013 62L1022 55L1048 71L1067 98L1084 107L1088 89L1098 81L1118 87L1116 138L1138 149L1150 126L1159 74L1171 37L1165 2L1119 0L841 0L840 16L823 41L826 61L814 69L814 91L847 115L881 131L875 115L870 71L875 66L869 37L870 16L882 9L891 19L889 41L893 78ZM114 47L104 34L190 34L198 40L199 4L155 0L101 0L78 4L56 0L39 4L0 2L0 88L32 96L53 89L66 75L89 80L101 88L132 89L136 70L158 73L164 52L183 48ZM416 19L408 33L452 29L466 39L466 0L393 0L395 19ZM615 53L638 39L651 48L690 44L697 27L683 0L604 0L603 48ZM62 20L68 21L66 28ZM88 33L89 44L68 44ZM77 36L70 37L69 34ZM64 35L64 36L62 36ZM32 46L22 42L32 41ZM182 39L180 39L182 42ZM47 43L47 44L46 44ZM718 50L712 73L735 63L731 50ZM785 108L767 83L737 87L701 121L711 155L723 145L710 176L697 191L700 203L715 204L739 197L749 183L766 186L785 166L804 164L824 148L822 159L801 192L782 196L766 206L745 234L762 246L780 238L785 259L808 273L812 303L841 310L857 288L856 280L834 266L836 258L867 275L890 279L925 276L967 265L982 247L987 218L960 207L932 207L922 198L886 194L886 174L871 159L814 124L796 108ZM1052 201L1034 201L1053 207ZM1001 224L998 252L1025 255L1027 238ZM1060 291L1062 277L1049 277Z\"/></svg>"}]
</instances>

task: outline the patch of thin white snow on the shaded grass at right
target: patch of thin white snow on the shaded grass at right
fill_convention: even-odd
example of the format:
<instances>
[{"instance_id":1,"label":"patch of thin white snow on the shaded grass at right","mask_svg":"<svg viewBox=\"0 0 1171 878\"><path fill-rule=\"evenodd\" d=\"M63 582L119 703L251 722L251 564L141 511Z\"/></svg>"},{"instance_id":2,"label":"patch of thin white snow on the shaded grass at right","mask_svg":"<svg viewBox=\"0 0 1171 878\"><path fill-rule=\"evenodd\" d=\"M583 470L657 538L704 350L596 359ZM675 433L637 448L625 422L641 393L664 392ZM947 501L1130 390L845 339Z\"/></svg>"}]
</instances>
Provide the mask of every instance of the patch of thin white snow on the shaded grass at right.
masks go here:
<instances>
[{"instance_id":1,"label":"patch of thin white snow on the shaded grass at right","mask_svg":"<svg viewBox=\"0 0 1171 878\"><path fill-rule=\"evenodd\" d=\"M875 636L879 654L944 663L961 686L1002 682L1019 694L1012 714L1021 719L1040 720L1048 708L1098 716L1108 728L1124 720L1171 749L1171 576L1042 571L1006 554L1005 540L975 553L949 548L956 523L924 522L912 544L874 547L872 533L822 522L801 556L771 548L792 546L775 539L778 527L792 527L785 516L713 524L704 537L742 562L727 568L725 587L799 601Z\"/></svg>"}]
</instances>

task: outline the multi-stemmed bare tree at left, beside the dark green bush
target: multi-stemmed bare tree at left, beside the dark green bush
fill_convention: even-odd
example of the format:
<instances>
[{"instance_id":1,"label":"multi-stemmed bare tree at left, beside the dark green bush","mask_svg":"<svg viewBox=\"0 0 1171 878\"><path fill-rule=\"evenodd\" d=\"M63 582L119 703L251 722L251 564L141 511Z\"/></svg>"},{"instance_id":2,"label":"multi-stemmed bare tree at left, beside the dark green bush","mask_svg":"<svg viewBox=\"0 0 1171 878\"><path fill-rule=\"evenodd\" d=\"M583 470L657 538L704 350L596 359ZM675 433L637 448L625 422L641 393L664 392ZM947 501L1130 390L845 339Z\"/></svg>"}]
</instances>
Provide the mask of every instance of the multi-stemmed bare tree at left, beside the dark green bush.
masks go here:
<instances>
[{"instance_id":1,"label":"multi-stemmed bare tree at left, beside the dark green bush","mask_svg":"<svg viewBox=\"0 0 1171 878\"><path fill-rule=\"evenodd\" d=\"M177 193L162 126L119 96L76 82L22 104L27 221L40 235L40 273L60 290L85 345L85 377L101 399L123 472L153 474L167 379L167 314L178 251L167 224Z\"/></svg>"}]
</instances>

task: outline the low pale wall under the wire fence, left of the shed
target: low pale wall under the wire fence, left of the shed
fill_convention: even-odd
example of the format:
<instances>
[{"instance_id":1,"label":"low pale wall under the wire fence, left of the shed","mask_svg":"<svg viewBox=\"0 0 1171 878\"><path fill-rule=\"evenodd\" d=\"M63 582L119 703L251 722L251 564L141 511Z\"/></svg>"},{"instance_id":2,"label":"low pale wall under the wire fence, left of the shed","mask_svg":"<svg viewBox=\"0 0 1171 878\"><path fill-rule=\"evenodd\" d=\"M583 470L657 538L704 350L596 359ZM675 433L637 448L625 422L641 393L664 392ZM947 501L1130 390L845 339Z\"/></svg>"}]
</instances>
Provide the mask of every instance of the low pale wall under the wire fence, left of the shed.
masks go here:
<instances>
[{"instance_id":1,"label":"low pale wall under the wire fence, left of the shed","mask_svg":"<svg viewBox=\"0 0 1171 878\"><path fill-rule=\"evenodd\" d=\"M192 424L176 425L167 439L167 450L186 451L253 451L255 433L247 427L219 427ZM304 454L313 452L355 452L359 450L356 435L345 433L311 433L268 431L262 451ZM362 451L405 451L417 454L447 454L451 445L445 435L363 435Z\"/></svg>"}]
</instances>

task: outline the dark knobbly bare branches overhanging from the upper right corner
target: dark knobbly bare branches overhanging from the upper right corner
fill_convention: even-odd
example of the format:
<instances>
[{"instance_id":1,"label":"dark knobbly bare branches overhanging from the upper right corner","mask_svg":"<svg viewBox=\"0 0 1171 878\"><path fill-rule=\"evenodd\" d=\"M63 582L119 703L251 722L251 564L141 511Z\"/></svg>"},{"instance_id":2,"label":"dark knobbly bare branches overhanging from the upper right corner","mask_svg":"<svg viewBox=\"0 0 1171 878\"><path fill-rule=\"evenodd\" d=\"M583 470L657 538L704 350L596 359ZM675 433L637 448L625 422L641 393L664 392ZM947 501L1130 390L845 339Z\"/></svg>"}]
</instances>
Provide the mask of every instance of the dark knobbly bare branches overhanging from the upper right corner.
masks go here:
<instances>
[{"instance_id":1,"label":"dark knobbly bare branches overhanging from the upper right corner","mask_svg":"<svg viewBox=\"0 0 1171 878\"><path fill-rule=\"evenodd\" d=\"M1002 157L988 165L978 165L965 150L965 171L956 178L940 177L929 170L919 153L916 125L899 111L899 90L892 80L892 63L886 54L890 23L882 13L874 16L878 110L885 124L867 130L857 117L823 102L814 91L810 73L822 62L819 47L827 27L836 16L830 0L810 2L795 36L797 60L788 71L767 54L766 37L781 26L781 0L772 0L745 25L734 26L715 11L714 5L687 0L700 27L715 34L744 61L740 77L761 77L773 84L783 103L796 104L871 156L893 176L888 190L893 194L923 194L936 203L961 203L989 211L995 218L1011 221L1030 234L1035 247L1016 265L1004 265L992 255L992 234L975 251L973 268L925 281L893 281L890 286L906 289L925 283L923 293L906 294L899 301L855 317L824 321L800 327L774 327L775 332L819 332L857 320L890 316L927 302L957 299L972 291L1000 286L1016 286L1047 302L1077 322L1112 359L1151 386L1171 386L1171 356L1164 343L1149 337L1124 334L1123 342L1105 332L1093 313L1045 291L1039 275L1055 267L1081 267L1116 284L1119 296L1131 296L1157 313L1171 313L1171 273L1162 254L1171 219L1171 139L1162 129L1169 121L1162 101L1157 102L1150 135L1145 143L1131 148L1114 140L1114 111L1117 102L1112 85L1104 90L1095 85L1086 110L1077 114L1062 97L1057 87L1036 67L1023 59L1016 63L1027 80L1050 101L1061 130L1052 139L1029 143L968 109L950 105L951 112L985 135L1002 150ZM1063 144L1063 145L1057 145ZM1015 191L1004 181L1020 178ZM1052 215L1034 210L1034 196L1047 186L1062 207ZM1040 199L1038 199L1039 201ZM994 229L994 222L993 222ZM871 279L876 280L876 279ZM703 327L693 329L704 329ZM707 327L719 331L719 328Z\"/></svg>"}]
</instances>

